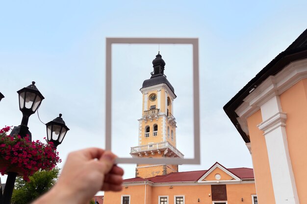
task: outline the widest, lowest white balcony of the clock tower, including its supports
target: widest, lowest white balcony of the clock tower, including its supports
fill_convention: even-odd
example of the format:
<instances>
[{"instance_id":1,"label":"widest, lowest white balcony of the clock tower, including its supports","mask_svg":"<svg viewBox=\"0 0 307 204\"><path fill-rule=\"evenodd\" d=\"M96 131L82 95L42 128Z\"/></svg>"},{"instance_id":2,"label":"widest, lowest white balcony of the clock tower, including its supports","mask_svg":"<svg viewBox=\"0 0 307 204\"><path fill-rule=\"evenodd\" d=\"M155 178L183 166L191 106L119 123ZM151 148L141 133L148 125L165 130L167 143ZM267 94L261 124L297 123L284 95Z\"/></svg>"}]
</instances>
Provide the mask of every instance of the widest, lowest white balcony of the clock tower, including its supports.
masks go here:
<instances>
[{"instance_id":1,"label":"widest, lowest white balcony of the clock tower, including its supports","mask_svg":"<svg viewBox=\"0 0 307 204\"><path fill-rule=\"evenodd\" d=\"M163 154L168 157L181 159L183 159L184 157L184 155L168 141L131 147L130 155L132 156L138 155L140 157L143 157L143 155L149 156L150 154Z\"/></svg>"}]
</instances>

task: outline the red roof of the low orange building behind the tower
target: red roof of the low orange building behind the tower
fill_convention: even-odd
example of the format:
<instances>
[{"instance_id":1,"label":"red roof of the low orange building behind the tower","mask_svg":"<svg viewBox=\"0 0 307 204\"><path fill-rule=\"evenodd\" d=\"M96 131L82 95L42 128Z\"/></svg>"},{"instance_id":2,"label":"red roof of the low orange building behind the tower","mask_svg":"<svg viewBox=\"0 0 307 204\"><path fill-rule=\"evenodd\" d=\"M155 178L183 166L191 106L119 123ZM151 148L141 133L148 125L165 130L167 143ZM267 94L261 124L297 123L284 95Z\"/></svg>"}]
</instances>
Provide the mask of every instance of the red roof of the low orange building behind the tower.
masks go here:
<instances>
[{"instance_id":1,"label":"red roof of the low orange building behind the tower","mask_svg":"<svg viewBox=\"0 0 307 204\"><path fill-rule=\"evenodd\" d=\"M211 166L209 169L211 169L213 166ZM146 179L137 177L132 179L125 179L124 182L137 182L137 181L151 181L153 183L187 182L187 181L191 182L191 181L198 181L202 176L204 176L204 174L208 170L175 172L163 176L155 176ZM227 170L230 171L235 176L237 176L239 179L254 179L254 171L251 168L229 168Z\"/></svg>"}]
</instances>

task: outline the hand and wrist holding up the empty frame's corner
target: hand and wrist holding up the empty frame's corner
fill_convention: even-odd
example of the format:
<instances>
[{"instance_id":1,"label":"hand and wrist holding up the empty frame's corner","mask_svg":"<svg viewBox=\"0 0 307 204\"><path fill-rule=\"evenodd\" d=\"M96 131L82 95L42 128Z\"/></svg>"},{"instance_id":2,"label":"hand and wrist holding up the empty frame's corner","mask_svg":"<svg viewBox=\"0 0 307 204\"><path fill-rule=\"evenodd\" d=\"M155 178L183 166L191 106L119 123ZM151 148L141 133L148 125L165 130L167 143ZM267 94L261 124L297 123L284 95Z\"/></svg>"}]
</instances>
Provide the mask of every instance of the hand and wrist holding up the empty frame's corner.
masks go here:
<instances>
[{"instance_id":1,"label":"hand and wrist holding up the empty frame's corner","mask_svg":"<svg viewBox=\"0 0 307 204\"><path fill-rule=\"evenodd\" d=\"M114 165L115 158L99 148L70 153L58 182L33 204L87 204L100 190L122 190L124 171Z\"/></svg>"}]
</instances>

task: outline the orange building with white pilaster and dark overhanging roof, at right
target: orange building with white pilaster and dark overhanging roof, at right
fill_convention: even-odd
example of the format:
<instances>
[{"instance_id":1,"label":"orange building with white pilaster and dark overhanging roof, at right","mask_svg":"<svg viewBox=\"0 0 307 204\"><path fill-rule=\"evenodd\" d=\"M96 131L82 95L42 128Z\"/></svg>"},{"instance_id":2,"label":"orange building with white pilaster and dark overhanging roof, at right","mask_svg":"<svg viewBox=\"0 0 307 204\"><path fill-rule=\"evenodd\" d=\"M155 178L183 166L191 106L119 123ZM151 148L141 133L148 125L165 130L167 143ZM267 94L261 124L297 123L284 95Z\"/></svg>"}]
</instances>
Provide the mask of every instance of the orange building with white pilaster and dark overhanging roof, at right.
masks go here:
<instances>
[{"instance_id":1,"label":"orange building with white pilaster and dark overhanging roof, at right","mask_svg":"<svg viewBox=\"0 0 307 204\"><path fill-rule=\"evenodd\" d=\"M260 204L307 203L307 30L224 110L249 148Z\"/></svg>"}]
</instances>

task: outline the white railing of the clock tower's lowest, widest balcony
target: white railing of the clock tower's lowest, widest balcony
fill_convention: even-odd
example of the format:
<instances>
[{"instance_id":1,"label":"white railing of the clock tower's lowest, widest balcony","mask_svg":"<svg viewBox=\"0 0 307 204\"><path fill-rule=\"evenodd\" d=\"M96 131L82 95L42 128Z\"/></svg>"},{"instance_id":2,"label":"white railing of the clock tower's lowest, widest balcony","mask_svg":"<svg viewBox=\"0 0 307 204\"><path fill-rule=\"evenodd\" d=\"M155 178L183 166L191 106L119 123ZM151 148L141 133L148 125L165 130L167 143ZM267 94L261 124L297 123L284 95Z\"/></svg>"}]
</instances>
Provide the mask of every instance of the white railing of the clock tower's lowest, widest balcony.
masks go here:
<instances>
[{"instance_id":1,"label":"white railing of the clock tower's lowest, widest balcony","mask_svg":"<svg viewBox=\"0 0 307 204\"><path fill-rule=\"evenodd\" d=\"M175 153L179 158L184 157L184 155L168 141L131 147L130 155L147 151L157 151L157 150L164 151L165 149L169 149L170 151Z\"/></svg>"}]
</instances>

